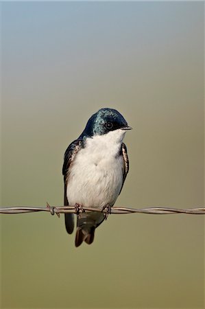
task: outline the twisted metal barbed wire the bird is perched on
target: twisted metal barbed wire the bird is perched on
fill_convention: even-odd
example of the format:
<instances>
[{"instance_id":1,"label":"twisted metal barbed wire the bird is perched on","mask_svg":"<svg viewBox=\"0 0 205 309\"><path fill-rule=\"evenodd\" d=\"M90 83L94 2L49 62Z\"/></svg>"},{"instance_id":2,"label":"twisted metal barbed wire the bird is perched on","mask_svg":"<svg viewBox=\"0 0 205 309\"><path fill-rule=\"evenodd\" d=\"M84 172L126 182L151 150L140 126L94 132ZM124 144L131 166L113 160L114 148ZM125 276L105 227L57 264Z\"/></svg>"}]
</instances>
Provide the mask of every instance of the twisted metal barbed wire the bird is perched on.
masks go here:
<instances>
[{"instance_id":1,"label":"twisted metal barbed wire the bird is perched on","mask_svg":"<svg viewBox=\"0 0 205 309\"><path fill-rule=\"evenodd\" d=\"M76 207L76 206L50 206L46 207L0 207L0 214L27 214L39 211L47 211L51 215L56 214L77 214L84 211L97 211L107 214L205 214L205 207L195 207L189 209L177 209L171 207L146 207L134 209L129 207L112 207L111 209L97 209L93 207Z\"/></svg>"}]
</instances>

